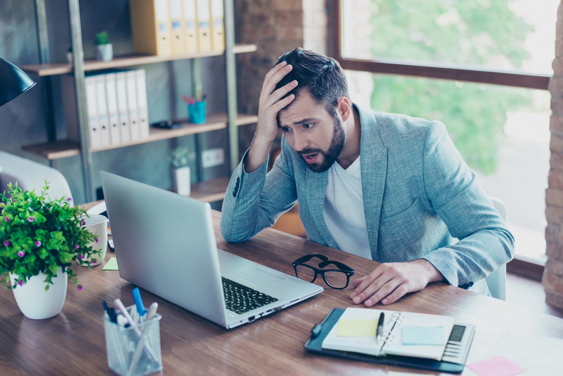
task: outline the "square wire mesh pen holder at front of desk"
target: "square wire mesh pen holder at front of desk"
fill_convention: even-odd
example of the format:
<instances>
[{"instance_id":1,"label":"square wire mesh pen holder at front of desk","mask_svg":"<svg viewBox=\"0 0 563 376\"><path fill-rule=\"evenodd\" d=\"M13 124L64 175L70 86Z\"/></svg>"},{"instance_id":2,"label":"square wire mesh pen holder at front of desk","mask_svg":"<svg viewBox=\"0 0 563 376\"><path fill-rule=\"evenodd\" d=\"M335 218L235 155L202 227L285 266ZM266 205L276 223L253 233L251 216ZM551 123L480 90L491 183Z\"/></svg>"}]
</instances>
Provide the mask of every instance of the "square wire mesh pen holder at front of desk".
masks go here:
<instances>
[{"instance_id":1,"label":"square wire mesh pen holder at front of desk","mask_svg":"<svg viewBox=\"0 0 563 376\"><path fill-rule=\"evenodd\" d=\"M134 307L127 307L127 311L131 313ZM149 321L124 328L104 315L108 365L112 371L121 376L145 376L162 370L161 318L157 314Z\"/></svg>"}]
</instances>

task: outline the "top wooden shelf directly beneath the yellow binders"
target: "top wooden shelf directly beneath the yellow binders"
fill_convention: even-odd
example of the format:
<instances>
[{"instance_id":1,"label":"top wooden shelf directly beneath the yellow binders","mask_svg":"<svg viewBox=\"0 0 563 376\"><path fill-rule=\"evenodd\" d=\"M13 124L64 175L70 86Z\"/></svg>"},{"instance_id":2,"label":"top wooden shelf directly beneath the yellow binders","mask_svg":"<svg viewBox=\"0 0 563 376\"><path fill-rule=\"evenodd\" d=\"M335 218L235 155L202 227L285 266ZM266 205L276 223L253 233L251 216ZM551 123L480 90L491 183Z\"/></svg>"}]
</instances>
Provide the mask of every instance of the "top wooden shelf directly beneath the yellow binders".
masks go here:
<instances>
[{"instance_id":1,"label":"top wooden shelf directly beneath the yellow binders","mask_svg":"<svg viewBox=\"0 0 563 376\"><path fill-rule=\"evenodd\" d=\"M256 45L235 45L233 52L242 54L257 50ZM162 63L163 61L194 59L195 57L220 56L224 51L217 52L197 52L196 54L175 55L175 56L154 56L154 55L133 55L124 57L114 57L110 61L86 60L84 70L99 70L109 68L131 67L132 65ZM69 63L50 63L50 64L26 64L18 65L24 72L35 73L38 76L55 76L72 72L72 64Z\"/></svg>"}]
</instances>

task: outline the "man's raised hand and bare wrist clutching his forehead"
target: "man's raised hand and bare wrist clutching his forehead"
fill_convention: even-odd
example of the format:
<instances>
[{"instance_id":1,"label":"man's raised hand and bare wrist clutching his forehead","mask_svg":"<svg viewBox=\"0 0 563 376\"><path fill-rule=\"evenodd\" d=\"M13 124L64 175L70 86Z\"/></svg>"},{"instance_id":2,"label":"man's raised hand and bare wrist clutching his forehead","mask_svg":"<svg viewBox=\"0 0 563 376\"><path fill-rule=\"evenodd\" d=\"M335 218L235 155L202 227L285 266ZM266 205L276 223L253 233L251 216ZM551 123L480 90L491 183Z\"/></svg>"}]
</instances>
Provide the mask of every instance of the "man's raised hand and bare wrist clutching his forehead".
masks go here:
<instances>
[{"instance_id":1,"label":"man's raised hand and bare wrist clutching his forehead","mask_svg":"<svg viewBox=\"0 0 563 376\"><path fill-rule=\"evenodd\" d=\"M264 78L258 103L258 124L250 151L244 161L244 170L247 173L256 171L267 160L272 142L278 135L278 120L276 120L278 112L295 98L293 94L283 98L284 95L297 87L295 80L274 91L278 82L282 81L282 78L292 69L291 65L282 61L272 68Z\"/></svg>"}]
</instances>

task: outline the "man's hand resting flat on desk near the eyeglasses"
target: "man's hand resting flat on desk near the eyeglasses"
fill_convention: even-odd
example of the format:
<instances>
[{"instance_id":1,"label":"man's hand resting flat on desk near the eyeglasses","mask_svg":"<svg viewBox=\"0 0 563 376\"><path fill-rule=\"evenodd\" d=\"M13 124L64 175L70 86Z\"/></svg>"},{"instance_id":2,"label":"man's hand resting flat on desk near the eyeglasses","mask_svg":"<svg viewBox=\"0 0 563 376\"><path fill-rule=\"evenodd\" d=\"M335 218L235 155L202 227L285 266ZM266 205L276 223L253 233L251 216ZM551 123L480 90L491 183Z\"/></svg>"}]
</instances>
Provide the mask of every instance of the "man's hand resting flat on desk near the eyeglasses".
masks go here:
<instances>
[{"instance_id":1,"label":"man's hand resting flat on desk near the eyeglasses","mask_svg":"<svg viewBox=\"0 0 563 376\"><path fill-rule=\"evenodd\" d=\"M443 281L444 276L427 260L404 263L383 263L352 284L350 298L356 304L371 307L379 300L391 304L407 293L422 290L430 282Z\"/></svg>"}]
</instances>

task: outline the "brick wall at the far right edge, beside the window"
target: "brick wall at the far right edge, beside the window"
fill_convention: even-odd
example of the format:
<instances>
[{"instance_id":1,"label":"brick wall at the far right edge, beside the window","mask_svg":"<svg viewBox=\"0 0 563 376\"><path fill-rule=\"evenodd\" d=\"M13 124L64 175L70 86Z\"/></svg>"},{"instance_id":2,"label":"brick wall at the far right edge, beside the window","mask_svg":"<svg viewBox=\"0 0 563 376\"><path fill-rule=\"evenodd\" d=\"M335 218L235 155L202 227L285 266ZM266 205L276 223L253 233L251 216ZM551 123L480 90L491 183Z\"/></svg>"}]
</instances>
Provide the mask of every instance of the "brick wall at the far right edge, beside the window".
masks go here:
<instances>
[{"instance_id":1,"label":"brick wall at the far right edge, beside the window","mask_svg":"<svg viewBox=\"0 0 563 376\"><path fill-rule=\"evenodd\" d=\"M555 60L549 81L551 160L546 190L547 263L543 273L546 302L563 308L563 3L557 9Z\"/></svg>"}]
</instances>

